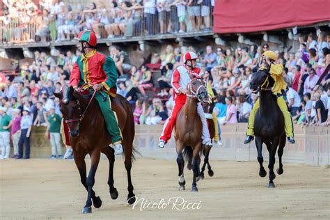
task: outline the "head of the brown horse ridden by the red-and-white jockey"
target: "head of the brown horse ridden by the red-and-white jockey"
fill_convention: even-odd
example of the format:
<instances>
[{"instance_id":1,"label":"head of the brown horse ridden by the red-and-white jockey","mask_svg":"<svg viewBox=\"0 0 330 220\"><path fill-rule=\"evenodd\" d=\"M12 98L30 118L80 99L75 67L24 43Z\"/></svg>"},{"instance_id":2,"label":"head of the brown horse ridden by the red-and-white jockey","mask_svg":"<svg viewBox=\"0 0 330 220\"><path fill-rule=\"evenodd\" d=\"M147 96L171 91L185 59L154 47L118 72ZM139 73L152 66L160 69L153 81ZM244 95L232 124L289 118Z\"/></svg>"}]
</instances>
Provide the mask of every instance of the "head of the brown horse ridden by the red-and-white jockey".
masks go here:
<instances>
[{"instance_id":1,"label":"head of the brown horse ridden by the red-and-white jockey","mask_svg":"<svg viewBox=\"0 0 330 220\"><path fill-rule=\"evenodd\" d=\"M207 89L202 79L192 77L190 83L188 84L189 93L187 96L197 98L199 102L209 102L209 97L207 95Z\"/></svg>"}]
</instances>

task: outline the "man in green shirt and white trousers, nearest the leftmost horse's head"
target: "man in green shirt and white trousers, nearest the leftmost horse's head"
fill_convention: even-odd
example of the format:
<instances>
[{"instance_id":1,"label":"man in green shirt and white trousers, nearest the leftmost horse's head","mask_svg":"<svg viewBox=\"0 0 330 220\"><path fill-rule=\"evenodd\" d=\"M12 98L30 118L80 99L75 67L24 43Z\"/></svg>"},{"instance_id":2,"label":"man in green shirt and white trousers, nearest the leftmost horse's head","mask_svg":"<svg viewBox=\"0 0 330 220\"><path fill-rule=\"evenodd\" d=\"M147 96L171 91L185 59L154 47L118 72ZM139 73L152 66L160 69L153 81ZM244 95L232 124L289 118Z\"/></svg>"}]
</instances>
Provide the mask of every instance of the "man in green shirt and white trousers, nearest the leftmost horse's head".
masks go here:
<instances>
[{"instance_id":1,"label":"man in green shirt and white trousers, nearest the leftmost horse's head","mask_svg":"<svg viewBox=\"0 0 330 220\"><path fill-rule=\"evenodd\" d=\"M63 159L62 156L62 146L61 146L61 116L58 116L58 114L55 113L55 107L50 107L50 113L47 118L48 120L48 126L46 131L46 136L48 136L48 133L50 135L50 143L52 145L52 156L49 157L49 159ZM56 151L57 150L57 151ZM57 152L57 157L56 157Z\"/></svg>"}]
</instances>

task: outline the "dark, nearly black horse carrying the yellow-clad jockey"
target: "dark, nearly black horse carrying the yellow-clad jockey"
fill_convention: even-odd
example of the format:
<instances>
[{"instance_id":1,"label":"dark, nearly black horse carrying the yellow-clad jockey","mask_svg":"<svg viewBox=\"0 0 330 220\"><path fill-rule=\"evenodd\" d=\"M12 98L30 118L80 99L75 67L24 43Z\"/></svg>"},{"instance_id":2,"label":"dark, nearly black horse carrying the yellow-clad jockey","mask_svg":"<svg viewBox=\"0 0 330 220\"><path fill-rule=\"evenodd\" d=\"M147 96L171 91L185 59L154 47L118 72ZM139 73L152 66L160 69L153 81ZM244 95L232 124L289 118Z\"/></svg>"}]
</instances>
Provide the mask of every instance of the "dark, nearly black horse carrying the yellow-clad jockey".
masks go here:
<instances>
[{"instance_id":1,"label":"dark, nearly black horse carrying the yellow-clad jockey","mask_svg":"<svg viewBox=\"0 0 330 220\"><path fill-rule=\"evenodd\" d=\"M279 168L276 171L278 175L283 173L282 155L285 146L284 116L276 103L276 96L272 93L273 86L274 79L270 76L269 71L259 70L253 74L253 79L250 83L251 91L253 93L260 92L260 108L256 112L253 129L256 136L256 148L260 164L259 175L262 178L267 175L265 168L262 166L264 161L262 157L262 143L265 143L269 152L269 188L275 187L273 180L276 177L274 164L277 146Z\"/></svg>"}]
</instances>

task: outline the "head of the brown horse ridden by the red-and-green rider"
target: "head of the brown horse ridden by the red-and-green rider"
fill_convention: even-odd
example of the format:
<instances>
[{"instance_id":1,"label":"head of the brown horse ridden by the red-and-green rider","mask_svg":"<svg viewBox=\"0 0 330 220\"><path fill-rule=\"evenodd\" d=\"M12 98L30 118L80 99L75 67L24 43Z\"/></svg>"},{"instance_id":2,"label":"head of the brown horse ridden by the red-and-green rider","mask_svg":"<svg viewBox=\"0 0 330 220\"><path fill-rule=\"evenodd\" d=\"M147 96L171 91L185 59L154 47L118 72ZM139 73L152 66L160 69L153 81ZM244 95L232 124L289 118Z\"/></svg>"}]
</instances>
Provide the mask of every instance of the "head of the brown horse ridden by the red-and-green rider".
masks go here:
<instances>
[{"instance_id":1,"label":"head of the brown horse ridden by the red-and-green rider","mask_svg":"<svg viewBox=\"0 0 330 220\"><path fill-rule=\"evenodd\" d=\"M81 108L78 100L79 93L72 86L63 86L60 93L54 93L60 100L60 110L65 123L68 124L70 136L79 135L79 123L81 121Z\"/></svg>"}]
</instances>

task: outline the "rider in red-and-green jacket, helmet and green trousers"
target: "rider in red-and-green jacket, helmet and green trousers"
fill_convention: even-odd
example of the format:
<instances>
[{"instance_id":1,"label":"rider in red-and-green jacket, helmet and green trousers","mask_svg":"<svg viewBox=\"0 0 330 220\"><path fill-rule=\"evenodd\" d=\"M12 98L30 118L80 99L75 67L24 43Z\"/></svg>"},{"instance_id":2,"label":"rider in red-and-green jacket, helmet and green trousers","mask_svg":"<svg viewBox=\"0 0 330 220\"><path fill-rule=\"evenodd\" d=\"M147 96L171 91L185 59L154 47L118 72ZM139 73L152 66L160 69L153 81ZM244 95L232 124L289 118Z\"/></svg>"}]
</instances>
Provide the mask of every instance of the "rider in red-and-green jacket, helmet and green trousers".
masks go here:
<instances>
[{"instance_id":1,"label":"rider in red-and-green jacket, helmet and green trousers","mask_svg":"<svg viewBox=\"0 0 330 220\"><path fill-rule=\"evenodd\" d=\"M117 70L113 59L104 54L100 54L94 48L96 46L97 38L93 31L81 31L78 35L79 50L82 55L77 58L74 63L71 76L70 86L74 88L88 89L91 95L94 91L95 100L100 105L100 109L104 116L105 124L109 134L111 135L111 142L115 146L115 153L123 153L122 139L116 113L111 110L111 97L116 97L116 81Z\"/></svg>"}]
</instances>

